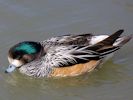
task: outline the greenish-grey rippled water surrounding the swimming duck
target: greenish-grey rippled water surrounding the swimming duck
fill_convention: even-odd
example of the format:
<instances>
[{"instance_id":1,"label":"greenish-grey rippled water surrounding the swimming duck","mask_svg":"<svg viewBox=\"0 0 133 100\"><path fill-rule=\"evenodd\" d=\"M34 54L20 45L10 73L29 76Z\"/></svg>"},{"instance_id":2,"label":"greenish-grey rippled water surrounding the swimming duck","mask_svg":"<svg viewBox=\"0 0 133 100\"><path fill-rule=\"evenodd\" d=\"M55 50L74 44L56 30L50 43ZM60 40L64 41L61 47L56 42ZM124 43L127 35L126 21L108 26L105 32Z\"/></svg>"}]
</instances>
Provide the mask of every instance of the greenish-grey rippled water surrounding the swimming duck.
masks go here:
<instances>
[{"instance_id":1,"label":"greenish-grey rippled water surrounding the swimming duck","mask_svg":"<svg viewBox=\"0 0 133 100\"><path fill-rule=\"evenodd\" d=\"M133 40L86 75L35 79L4 73L8 49L20 41L121 28L128 35L132 18L132 0L0 0L0 100L133 100Z\"/></svg>"}]
</instances>

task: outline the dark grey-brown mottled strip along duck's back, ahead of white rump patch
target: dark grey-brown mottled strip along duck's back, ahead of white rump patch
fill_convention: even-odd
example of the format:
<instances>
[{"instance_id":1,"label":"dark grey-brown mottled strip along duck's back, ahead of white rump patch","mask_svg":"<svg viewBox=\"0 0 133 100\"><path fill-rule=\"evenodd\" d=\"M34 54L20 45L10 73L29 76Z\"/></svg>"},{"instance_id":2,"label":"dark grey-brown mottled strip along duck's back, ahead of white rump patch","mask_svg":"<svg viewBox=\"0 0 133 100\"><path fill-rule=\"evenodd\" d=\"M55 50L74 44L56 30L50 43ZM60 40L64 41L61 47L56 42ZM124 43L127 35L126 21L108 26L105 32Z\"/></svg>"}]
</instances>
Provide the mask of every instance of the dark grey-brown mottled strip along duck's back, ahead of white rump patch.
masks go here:
<instances>
[{"instance_id":1,"label":"dark grey-brown mottled strip along duck's back, ahead of white rump patch","mask_svg":"<svg viewBox=\"0 0 133 100\"><path fill-rule=\"evenodd\" d=\"M79 35L64 35L53 37L43 41L42 43L46 45L88 45L92 39L93 35L90 33L79 34Z\"/></svg>"}]
</instances>

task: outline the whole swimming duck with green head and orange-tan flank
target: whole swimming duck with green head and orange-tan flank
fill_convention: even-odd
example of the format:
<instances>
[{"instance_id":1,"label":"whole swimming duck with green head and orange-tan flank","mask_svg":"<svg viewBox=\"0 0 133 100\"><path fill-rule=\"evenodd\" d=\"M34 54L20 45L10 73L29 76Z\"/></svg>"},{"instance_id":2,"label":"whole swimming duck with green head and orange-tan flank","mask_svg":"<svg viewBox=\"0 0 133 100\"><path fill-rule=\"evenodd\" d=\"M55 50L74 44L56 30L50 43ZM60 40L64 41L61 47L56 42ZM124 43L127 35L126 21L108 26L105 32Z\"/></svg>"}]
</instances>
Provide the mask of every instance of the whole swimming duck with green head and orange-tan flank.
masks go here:
<instances>
[{"instance_id":1,"label":"whole swimming duck with green head and orange-tan flank","mask_svg":"<svg viewBox=\"0 0 133 100\"><path fill-rule=\"evenodd\" d=\"M71 77L97 69L132 35L121 36L123 29L111 35L69 34L44 41L23 41L8 52L9 66L5 73L16 69L31 77Z\"/></svg>"}]
</instances>

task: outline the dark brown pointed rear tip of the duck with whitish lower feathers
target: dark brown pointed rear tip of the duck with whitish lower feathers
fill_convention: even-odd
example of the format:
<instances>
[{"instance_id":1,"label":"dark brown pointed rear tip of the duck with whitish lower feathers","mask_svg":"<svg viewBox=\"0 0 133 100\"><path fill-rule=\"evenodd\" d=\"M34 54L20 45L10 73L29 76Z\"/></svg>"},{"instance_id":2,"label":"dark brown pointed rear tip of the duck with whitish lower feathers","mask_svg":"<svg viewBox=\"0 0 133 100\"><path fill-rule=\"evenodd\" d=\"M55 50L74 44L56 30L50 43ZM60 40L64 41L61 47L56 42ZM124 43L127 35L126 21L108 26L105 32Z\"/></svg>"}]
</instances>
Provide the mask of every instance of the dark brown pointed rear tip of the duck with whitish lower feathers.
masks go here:
<instances>
[{"instance_id":1,"label":"dark brown pointed rear tip of the duck with whitish lower feathers","mask_svg":"<svg viewBox=\"0 0 133 100\"><path fill-rule=\"evenodd\" d=\"M91 46L90 49L100 53L101 57L104 57L107 54L117 51L118 49L120 49L120 47L122 47L129 40L131 40L133 36L133 35L129 35L129 36L120 37L123 32L124 32L123 29L118 30L117 32L113 33L106 39Z\"/></svg>"}]
</instances>

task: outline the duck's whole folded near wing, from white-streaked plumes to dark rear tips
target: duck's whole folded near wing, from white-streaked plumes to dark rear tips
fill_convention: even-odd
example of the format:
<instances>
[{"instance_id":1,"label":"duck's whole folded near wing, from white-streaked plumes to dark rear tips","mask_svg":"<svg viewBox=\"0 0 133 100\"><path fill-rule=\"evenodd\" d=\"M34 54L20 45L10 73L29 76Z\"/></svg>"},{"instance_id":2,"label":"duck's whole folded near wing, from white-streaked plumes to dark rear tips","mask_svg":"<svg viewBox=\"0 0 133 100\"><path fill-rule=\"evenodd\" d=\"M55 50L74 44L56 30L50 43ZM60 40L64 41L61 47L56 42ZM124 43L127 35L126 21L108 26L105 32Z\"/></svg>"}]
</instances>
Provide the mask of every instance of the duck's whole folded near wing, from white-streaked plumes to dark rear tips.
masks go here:
<instances>
[{"instance_id":1,"label":"duck's whole folded near wing, from white-streaked plumes to dark rear tips","mask_svg":"<svg viewBox=\"0 0 133 100\"><path fill-rule=\"evenodd\" d=\"M105 55L113 53L114 51L120 49L122 45L124 45L131 39L131 36L120 37L122 32L123 30L119 30L110 35L108 38L91 46L55 46L49 49L46 55L44 56L45 63L51 67L66 67L79 63L86 63L90 60L99 60Z\"/></svg>"}]
</instances>

